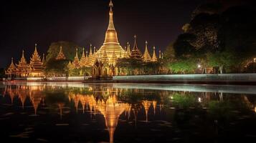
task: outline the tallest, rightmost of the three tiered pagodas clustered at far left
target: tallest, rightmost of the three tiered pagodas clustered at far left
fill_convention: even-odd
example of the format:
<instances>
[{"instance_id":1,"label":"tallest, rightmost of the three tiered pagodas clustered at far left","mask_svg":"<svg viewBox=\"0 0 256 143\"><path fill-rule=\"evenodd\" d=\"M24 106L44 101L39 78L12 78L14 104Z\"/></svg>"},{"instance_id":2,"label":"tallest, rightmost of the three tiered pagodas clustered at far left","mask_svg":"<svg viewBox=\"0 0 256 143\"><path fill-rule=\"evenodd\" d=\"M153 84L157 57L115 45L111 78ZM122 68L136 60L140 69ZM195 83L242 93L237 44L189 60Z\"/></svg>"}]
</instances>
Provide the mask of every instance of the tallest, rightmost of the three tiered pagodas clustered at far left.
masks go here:
<instances>
[{"instance_id":1,"label":"tallest, rightmost of the three tiered pagodas clustered at far left","mask_svg":"<svg viewBox=\"0 0 256 143\"><path fill-rule=\"evenodd\" d=\"M29 73L32 77L42 77L44 75L44 64L41 61L41 58L37 52L37 44L34 45L34 54L32 54L32 58L30 58L30 67L31 71Z\"/></svg>"}]
</instances>

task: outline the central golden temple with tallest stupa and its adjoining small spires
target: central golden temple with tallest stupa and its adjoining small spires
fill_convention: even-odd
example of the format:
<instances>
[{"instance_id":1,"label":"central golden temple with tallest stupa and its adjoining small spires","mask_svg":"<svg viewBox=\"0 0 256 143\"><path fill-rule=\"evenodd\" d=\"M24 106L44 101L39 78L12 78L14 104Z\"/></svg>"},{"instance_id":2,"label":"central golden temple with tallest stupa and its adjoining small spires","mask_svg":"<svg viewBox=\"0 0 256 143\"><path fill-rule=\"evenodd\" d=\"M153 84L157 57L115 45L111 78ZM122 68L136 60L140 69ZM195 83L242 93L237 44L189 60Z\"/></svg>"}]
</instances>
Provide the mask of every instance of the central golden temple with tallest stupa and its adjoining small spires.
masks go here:
<instances>
[{"instance_id":1,"label":"central golden temple with tallest stupa and its adjoining small spires","mask_svg":"<svg viewBox=\"0 0 256 143\"><path fill-rule=\"evenodd\" d=\"M100 47L98 51L96 51L95 47L92 51L92 45L90 44L89 55L85 54L85 49L82 51L82 57L79 59L77 52L75 55L74 61L71 61L68 64L68 68L70 69L79 69L83 66L91 67L91 75L93 77L111 77L115 75L120 75L120 69L116 66L118 59L126 58L126 59L138 59L144 62L156 62L158 58L156 56L156 48L153 47L153 56L148 52L148 41L146 41L145 51L142 54L137 44L137 36L134 36L134 44L133 49L129 43L127 43L127 47L123 49L120 46L118 41L118 33L115 31L114 21L113 21L113 2L110 1L109 4L109 21L108 21L108 29L105 32L105 40L103 45ZM161 51L159 51L159 58L161 58Z\"/></svg>"}]
</instances>

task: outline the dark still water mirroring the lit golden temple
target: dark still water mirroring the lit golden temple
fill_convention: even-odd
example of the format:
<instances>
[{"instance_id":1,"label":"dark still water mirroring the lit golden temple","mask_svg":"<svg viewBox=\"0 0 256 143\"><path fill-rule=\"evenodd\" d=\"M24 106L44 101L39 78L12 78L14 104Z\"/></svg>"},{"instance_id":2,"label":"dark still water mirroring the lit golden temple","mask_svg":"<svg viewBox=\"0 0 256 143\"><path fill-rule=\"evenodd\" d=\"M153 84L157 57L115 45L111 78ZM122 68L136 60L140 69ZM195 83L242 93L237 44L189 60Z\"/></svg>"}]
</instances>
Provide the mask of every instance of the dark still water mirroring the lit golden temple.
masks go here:
<instances>
[{"instance_id":1,"label":"dark still water mirroring the lit golden temple","mask_svg":"<svg viewBox=\"0 0 256 143\"><path fill-rule=\"evenodd\" d=\"M1 142L256 142L256 87L0 83Z\"/></svg>"}]
</instances>

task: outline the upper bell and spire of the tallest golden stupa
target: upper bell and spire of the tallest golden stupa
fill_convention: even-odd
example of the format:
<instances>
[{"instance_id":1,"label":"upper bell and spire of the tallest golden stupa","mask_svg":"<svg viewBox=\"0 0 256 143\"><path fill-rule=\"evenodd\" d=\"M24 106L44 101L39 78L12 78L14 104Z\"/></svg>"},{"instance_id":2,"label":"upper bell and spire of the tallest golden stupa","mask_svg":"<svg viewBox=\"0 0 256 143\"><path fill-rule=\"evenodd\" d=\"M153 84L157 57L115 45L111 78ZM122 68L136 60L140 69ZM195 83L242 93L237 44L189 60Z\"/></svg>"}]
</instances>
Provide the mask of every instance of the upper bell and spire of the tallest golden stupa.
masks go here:
<instances>
[{"instance_id":1,"label":"upper bell and spire of the tallest golden stupa","mask_svg":"<svg viewBox=\"0 0 256 143\"><path fill-rule=\"evenodd\" d=\"M110 1L110 11L109 11L109 22L108 22L108 29L105 32L105 41L103 43L103 46L100 47L98 50L98 53L103 53L104 51L108 55L108 59L111 60L113 57L113 52L115 51L115 54L117 55L124 55L125 50L120 46L118 42L118 34L115 31L115 26L113 22L113 3Z\"/></svg>"}]
</instances>

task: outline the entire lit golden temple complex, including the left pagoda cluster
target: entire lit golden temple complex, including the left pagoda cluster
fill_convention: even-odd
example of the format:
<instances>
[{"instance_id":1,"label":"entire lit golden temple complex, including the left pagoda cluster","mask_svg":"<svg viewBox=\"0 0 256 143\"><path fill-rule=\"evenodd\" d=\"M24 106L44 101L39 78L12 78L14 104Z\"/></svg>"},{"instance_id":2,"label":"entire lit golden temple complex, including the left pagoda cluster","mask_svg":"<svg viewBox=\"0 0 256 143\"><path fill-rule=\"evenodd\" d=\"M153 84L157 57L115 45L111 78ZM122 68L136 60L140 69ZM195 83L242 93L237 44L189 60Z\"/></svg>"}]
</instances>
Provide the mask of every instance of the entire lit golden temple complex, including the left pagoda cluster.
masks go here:
<instances>
[{"instance_id":1,"label":"entire lit golden temple complex, including the left pagoda cluster","mask_svg":"<svg viewBox=\"0 0 256 143\"><path fill-rule=\"evenodd\" d=\"M127 46L120 46L118 41L118 33L115 31L115 26L113 22L113 2L110 1L109 4L109 22L108 29L105 32L105 41L103 45L100 46L100 49L92 47L90 44L89 52L85 51L85 48L82 49L82 56L79 57L78 49L76 49L75 58L72 61L69 61L67 64L67 69L80 69L83 67L90 68L90 75L93 77L111 77L115 75L125 75L125 71L118 69L116 66L118 59L138 59L143 62L157 62L158 59L162 58L162 53L159 51L159 56L156 56L156 48L153 46L153 54L148 51L148 41L145 42L145 50L142 53L137 45L137 37L134 36L133 47L131 48L130 44L127 43ZM59 52L54 58L55 60L68 60L62 51L62 46L58 49ZM6 74L9 77L45 77L44 68L45 68L44 55L41 59L37 52L37 44L34 48L34 54L30 62L27 63L27 60L24 57L24 51L22 51L22 58L19 60L18 64L14 64L13 59L11 59L11 64L6 69Z\"/></svg>"}]
</instances>

